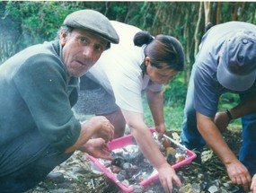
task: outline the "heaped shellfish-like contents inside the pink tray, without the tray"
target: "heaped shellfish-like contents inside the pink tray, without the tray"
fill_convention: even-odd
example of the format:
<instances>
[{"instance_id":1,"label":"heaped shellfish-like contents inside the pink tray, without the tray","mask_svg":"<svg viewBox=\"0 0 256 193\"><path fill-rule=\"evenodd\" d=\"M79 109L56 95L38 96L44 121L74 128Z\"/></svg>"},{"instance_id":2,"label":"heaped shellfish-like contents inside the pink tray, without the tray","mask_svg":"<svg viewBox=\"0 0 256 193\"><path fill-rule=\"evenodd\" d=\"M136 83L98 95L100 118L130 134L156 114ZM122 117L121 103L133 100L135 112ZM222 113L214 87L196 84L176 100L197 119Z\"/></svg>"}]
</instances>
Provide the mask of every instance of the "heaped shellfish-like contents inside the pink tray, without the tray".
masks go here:
<instances>
[{"instance_id":1,"label":"heaped shellfish-like contents inside the pink tray, without the tray","mask_svg":"<svg viewBox=\"0 0 256 193\"><path fill-rule=\"evenodd\" d=\"M163 136L160 140L156 133L153 136L163 156L171 165L189 157L185 147L172 143L167 136ZM134 139L133 142L132 145L112 150L111 155L114 157L112 162L101 160L102 164L126 186L137 184L156 173L156 170L139 150Z\"/></svg>"}]
</instances>

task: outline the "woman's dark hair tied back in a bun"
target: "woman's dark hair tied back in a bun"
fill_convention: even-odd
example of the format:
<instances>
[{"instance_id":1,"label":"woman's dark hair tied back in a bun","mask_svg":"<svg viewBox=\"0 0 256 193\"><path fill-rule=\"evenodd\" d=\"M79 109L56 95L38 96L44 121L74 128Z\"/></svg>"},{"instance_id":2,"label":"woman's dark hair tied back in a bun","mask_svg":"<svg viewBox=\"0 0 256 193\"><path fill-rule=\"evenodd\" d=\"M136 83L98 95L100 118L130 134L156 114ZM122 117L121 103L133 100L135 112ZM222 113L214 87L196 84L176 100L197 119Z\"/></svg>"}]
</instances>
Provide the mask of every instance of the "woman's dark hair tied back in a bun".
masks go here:
<instances>
[{"instance_id":1,"label":"woman's dark hair tied back in a bun","mask_svg":"<svg viewBox=\"0 0 256 193\"><path fill-rule=\"evenodd\" d=\"M176 71L184 69L184 52L178 39L167 35L153 38L149 32L139 31L133 41L138 47L146 45L145 56L149 57L152 66Z\"/></svg>"}]
</instances>

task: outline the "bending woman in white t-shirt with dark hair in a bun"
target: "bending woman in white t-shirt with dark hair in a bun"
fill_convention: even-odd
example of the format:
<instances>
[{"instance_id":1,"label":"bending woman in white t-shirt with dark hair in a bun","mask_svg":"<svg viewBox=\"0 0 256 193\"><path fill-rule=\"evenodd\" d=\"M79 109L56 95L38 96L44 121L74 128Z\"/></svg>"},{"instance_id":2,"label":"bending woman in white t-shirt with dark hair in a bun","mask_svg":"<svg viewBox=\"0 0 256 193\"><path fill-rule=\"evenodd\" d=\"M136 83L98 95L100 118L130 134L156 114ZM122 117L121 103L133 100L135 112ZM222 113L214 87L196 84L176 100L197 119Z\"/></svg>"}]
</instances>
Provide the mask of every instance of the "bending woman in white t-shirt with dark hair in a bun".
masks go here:
<instances>
[{"instance_id":1,"label":"bending woman in white t-shirt with dark hair in a bun","mask_svg":"<svg viewBox=\"0 0 256 193\"><path fill-rule=\"evenodd\" d=\"M154 127L163 136L163 84L183 70L184 54L179 40L167 35L152 37L149 32L121 22L111 22L119 44L111 45L86 75L75 106L77 114L103 115L123 136L126 124L146 158L159 173L166 192L172 180L181 180L166 162L144 121L142 92L146 91Z\"/></svg>"}]
</instances>

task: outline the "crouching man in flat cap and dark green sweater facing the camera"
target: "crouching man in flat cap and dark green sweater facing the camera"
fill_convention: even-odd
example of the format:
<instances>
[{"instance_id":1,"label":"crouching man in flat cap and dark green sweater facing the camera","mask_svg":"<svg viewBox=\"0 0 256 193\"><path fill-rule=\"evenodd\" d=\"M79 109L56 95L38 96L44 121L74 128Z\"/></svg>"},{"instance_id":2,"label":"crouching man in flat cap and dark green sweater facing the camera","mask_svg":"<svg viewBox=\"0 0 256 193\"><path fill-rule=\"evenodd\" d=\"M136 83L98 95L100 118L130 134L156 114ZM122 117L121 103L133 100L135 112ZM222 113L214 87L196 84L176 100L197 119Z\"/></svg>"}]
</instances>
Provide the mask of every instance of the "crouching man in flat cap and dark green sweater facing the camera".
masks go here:
<instances>
[{"instance_id":1,"label":"crouching man in flat cap and dark green sweater facing the camera","mask_svg":"<svg viewBox=\"0 0 256 193\"><path fill-rule=\"evenodd\" d=\"M79 77L119 36L102 13L67 15L57 39L31 46L0 66L0 190L36 186L75 150L110 159L114 127L104 117L80 123L71 108Z\"/></svg>"}]
</instances>

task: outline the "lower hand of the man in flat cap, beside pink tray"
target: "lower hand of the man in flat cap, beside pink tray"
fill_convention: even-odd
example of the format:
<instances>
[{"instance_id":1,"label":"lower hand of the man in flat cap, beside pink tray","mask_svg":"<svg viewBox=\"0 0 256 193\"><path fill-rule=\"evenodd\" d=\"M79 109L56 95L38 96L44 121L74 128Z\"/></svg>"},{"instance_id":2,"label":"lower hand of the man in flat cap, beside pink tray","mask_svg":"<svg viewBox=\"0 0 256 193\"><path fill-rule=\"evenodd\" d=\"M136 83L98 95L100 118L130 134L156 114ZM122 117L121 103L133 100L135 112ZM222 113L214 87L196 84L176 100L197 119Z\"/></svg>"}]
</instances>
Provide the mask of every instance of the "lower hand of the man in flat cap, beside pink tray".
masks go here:
<instances>
[{"instance_id":1,"label":"lower hand of the man in flat cap, beside pink tray","mask_svg":"<svg viewBox=\"0 0 256 193\"><path fill-rule=\"evenodd\" d=\"M79 150L95 158L113 160L113 157L110 156L110 149L102 138L90 139L86 144L80 147Z\"/></svg>"}]
</instances>

